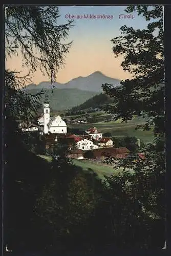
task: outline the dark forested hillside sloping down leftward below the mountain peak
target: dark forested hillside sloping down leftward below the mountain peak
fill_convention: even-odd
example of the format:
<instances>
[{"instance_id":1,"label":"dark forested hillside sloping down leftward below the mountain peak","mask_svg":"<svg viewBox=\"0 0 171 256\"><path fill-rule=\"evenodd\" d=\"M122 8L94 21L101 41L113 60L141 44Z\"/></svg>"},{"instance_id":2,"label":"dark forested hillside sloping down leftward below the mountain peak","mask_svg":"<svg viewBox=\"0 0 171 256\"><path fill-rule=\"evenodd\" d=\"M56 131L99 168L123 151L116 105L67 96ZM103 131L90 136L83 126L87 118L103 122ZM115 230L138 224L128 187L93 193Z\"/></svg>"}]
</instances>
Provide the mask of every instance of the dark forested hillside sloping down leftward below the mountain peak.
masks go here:
<instances>
[{"instance_id":1,"label":"dark forested hillside sloping down leftward below the mountain peak","mask_svg":"<svg viewBox=\"0 0 171 256\"><path fill-rule=\"evenodd\" d=\"M86 100L78 106L74 106L70 111L75 112L81 110L95 109L107 103L113 103L113 99L110 98L108 95L101 93L99 95L93 96L92 98Z\"/></svg>"}]
</instances>

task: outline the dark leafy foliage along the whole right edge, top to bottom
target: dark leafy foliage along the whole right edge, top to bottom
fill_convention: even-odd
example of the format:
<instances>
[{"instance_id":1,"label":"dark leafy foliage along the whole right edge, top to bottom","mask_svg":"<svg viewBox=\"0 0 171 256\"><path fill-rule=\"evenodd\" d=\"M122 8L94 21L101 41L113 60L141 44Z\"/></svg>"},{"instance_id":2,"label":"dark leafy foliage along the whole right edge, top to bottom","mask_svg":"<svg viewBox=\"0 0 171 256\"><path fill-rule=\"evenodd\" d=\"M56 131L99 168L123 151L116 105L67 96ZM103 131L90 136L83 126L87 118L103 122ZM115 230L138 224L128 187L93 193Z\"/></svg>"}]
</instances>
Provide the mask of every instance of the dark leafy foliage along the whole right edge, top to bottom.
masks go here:
<instances>
[{"instance_id":1,"label":"dark leafy foliage along the whole right edge, top to bottom","mask_svg":"<svg viewBox=\"0 0 171 256\"><path fill-rule=\"evenodd\" d=\"M123 122L131 120L135 115L148 117L147 122L139 127L144 130L153 129L155 140L153 144L143 148L145 160L138 160L134 153L117 162L107 160L110 164L113 162L115 168L124 168L119 176L108 178L108 199L110 195L114 195L114 210L121 207L116 204L117 198L127 199L127 203L124 203L127 209L129 201L133 203L133 211L129 210L131 218L126 216L123 207L119 216L113 219L114 223L118 223L113 231L116 232L117 229L120 232L122 244L130 243L129 246L135 246L137 243L140 248L162 248L165 226L163 9L162 6L131 6L125 11L137 11L149 23L147 29L143 30L122 26L121 36L112 39L115 56L124 57L121 66L123 70L133 74L133 79L121 81L116 88L111 84L103 84L104 92L114 98L114 105L103 109L113 113L114 120L122 119ZM120 216L123 218L118 219ZM139 226L139 231L134 223ZM124 225L132 227L128 233ZM138 238L138 234L145 227L147 232L144 240L142 237ZM158 237L156 230L160 234ZM127 239L131 233L134 234L131 239L134 245Z\"/></svg>"}]
</instances>

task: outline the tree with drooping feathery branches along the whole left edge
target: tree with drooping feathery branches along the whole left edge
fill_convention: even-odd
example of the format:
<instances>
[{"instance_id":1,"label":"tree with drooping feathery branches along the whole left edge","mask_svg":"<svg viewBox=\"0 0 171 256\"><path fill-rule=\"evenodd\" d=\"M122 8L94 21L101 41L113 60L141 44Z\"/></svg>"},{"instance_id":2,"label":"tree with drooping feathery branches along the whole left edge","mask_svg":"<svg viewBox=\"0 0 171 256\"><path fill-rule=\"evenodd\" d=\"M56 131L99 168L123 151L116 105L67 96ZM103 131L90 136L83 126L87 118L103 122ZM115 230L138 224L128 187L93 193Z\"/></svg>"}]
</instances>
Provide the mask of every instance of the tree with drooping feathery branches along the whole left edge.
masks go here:
<instances>
[{"instance_id":1,"label":"tree with drooping feathery branches along the whole left edge","mask_svg":"<svg viewBox=\"0 0 171 256\"><path fill-rule=\"evenodd\" d=\"M20 71L5 71L4 142L8 145L5 152L8 165L4 168L5 240L10 234L10 239L15 240L15 247L18 244L19 248L20 240L24 240L28 247L32 246L28 237L30 233L33 235L37 231L33 225L36 189L41 189L48 180L46 170L49 165L28 152L28 148L24 148L25 136L18 127L18 121L30 124L37 108L40 108L42 92L31 95L24 90L27 83L31 82L31 76L37 70L41 70L43 74L46 72L53 85L56 72L64 64L66 53L71 47L71 43L64 44L61 40L67 39L72 21L58 25L58 17L56 6L9 6L5 9L6 60L20 55L23 70L29 70L25 76ZM45 172L40 174L39 170L42 169ZM41 179L43 173L46 173L46 179ZM14 206L16 201L17 207ZM24 222L21 222L22 217ZM8 228L12 230L9 233Z\"/></svg>"}]
</instances>

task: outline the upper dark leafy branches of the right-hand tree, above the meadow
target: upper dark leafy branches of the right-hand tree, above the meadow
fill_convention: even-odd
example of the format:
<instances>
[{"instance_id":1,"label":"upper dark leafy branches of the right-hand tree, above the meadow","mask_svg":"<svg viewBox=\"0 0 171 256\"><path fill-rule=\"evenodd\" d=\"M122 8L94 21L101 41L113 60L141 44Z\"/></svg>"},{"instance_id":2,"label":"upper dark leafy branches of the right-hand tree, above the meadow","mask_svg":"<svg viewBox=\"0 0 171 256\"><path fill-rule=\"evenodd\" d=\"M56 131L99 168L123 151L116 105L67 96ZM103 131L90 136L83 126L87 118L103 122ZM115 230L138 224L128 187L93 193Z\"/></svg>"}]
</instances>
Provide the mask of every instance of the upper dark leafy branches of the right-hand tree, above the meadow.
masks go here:
<instances>
[{"instance_id":1,"label":"upper dark leafy branches of the right-hand tree, above the meadow","mask_svg":"<svg viewBox=\"0 0 171 256\"><path fill-rule=\"evenodd\" d=\"M104 92L114 98L114 105L103 109L113 113L114 120L127 121L134 115L146 116L148 121L143 128L148 130L154 127L155 134L163 136L163 9L162 6L131 6L125 11L137 11L138 15L149 20L149 24L143 30L124 25L120 28L121 36L111 40L115 57L124 57L121 66L124 71L133 74L133 79L121 81L116 88L103 84Z\"/></svg>"}]
</instances>

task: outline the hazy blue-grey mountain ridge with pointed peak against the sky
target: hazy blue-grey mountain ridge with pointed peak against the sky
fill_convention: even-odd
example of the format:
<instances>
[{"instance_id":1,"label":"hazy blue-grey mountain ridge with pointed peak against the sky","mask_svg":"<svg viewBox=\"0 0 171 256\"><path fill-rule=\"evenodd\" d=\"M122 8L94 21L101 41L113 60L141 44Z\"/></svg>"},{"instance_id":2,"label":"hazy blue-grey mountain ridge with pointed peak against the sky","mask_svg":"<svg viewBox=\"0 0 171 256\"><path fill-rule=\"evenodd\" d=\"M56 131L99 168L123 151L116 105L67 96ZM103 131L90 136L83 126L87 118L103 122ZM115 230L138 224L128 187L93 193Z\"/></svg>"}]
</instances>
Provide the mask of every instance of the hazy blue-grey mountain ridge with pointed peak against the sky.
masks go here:
<instances>
[{"instance_id":1,"label":"hazy blue-grey mountain ridge with pointed peak against the sky","mask_svg":"<svg viewBox=\"0 0 171 256\"><path fill-rule=\"evenodd\" d=\"M89 76L79 76L77 78L70 80L67 83L55 82L54 87L58 89L78 89L82 91L101 93L102 83L110 83L114 86L117 86L120 83L120 80L105 76L101 72L96 71ZM51 89L51 83L45 81L40 82L37 86L35 84L30 84L29 86L27 86L27 90L32 89Z\"/></svg>"}]
</instances>

